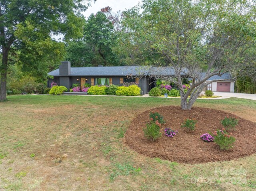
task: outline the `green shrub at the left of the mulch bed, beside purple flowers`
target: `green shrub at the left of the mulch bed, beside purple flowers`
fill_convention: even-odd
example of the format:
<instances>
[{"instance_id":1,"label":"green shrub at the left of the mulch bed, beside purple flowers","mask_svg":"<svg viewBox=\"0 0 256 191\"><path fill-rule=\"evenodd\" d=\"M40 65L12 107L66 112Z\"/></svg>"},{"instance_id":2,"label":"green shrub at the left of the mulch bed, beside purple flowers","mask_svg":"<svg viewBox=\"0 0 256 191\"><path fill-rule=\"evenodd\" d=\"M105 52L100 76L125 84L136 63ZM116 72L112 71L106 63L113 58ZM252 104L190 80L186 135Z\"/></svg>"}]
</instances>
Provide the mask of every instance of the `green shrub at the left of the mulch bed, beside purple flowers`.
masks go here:
<instances>
[{"instance_id":1,"label":"green shrub at the left of the mulch bed, beside purple flowers","mask_svg":"<svg viewBox=\"0 0 256 191\"><path fill-rule=\"evenodd\" d=\"M143 128L143 132L144 136L152 142L156 141L162 136L162 133L160 132L160 127L155 122L150 122L149 124L146 124L146 127Z\"/></svg>"}]
</instances>

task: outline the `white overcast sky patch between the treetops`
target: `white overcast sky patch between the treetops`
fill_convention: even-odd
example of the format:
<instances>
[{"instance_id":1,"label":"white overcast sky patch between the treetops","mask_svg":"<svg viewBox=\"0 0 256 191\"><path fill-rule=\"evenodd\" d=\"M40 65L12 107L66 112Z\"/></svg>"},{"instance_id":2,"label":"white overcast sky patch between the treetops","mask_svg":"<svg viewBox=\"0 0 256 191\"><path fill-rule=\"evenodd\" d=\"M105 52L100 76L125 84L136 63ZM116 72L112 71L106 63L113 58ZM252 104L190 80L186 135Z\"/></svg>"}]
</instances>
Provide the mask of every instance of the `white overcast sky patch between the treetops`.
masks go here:
<instances>
[{"instance_id":1,"label":"white overcast sky patch between the treetops","mask_svg":"<svg viewBox=\"0 0 256 191\"><path fill-rule=\"evenodd\" d=\"M110 6L113 12L122 12L126 9L132 8L138 4L138 2L140 2L140 0L97 0L95 3L92 2L92 6L88 7L83 14L88 18L90 14L96 14L101 8L107 6Z\"/></svg>"}]
</instances>

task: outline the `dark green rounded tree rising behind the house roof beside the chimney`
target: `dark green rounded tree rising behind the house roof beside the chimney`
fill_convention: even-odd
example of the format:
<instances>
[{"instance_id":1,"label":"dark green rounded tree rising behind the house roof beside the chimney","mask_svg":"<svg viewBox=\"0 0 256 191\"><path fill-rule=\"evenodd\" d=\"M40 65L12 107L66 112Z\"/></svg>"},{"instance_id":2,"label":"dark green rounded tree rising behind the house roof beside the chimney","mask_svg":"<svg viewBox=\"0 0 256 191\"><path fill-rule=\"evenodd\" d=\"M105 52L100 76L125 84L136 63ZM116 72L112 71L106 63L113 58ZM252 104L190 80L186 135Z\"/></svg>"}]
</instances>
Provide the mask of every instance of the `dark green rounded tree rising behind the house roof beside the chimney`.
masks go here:
<instances>
[{"instance_id":1,"label":"dark green rounded tree rising behind the house roof beside the chimney","mask_svg":"<svg viewBox=\"0 0 256 191\"><path fill-rule=\"evenodd\" d=\"M91 14L84 24L84 35L67 46L67 60L72 66L118 65L118 57L112 51L116 35L114 26L106 15Z\"/></svg>"}]
</instances>

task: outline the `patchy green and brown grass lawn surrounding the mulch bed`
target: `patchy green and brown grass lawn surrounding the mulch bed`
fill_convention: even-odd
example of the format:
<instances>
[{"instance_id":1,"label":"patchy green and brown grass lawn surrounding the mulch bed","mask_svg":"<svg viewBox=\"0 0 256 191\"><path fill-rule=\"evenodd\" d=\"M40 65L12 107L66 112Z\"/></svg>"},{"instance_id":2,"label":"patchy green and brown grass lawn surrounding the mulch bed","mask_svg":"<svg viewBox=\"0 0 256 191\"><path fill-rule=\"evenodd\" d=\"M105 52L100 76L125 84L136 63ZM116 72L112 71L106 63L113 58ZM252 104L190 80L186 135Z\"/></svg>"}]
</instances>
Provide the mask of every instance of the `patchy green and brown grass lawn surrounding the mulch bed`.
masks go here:
<instances>
[{"instance_id":1,"label":"patchy green and brown grass lawn surrounding the mulch bed","mask_svg":"<svg viewBox=\"0 0 256 191\"><path fill-rule=\"evenodd\" d=\"M177 98L8 96L0 103L0 189L255 190L256 154L191 165L149 158L126 146L124 134L138 113L179 104ZM256 122L254 100L201 99L194 106Z\"/></svg>"}]
</instances>

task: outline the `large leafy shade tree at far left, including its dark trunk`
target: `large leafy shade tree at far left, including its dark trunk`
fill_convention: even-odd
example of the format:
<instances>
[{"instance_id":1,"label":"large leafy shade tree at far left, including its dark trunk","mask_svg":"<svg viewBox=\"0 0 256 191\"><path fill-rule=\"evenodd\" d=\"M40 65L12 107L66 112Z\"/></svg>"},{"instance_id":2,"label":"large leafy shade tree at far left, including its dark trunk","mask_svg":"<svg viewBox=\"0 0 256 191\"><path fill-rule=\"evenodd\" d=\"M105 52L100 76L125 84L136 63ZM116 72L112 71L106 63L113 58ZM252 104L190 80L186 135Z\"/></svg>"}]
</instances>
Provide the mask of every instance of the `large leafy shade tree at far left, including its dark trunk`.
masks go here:
<instances>
[{"instance_id":1,"label":"large leafy shade tree at far left, including its dark trunk","mask_svg":"<svg viewBox=\"0 0 256 191\"><path fill-rule=\"evenodd\" d=\"M0 101L6 100L6 73L18 62L25 71L46 77L48 67L64 57L64 43L83 34L81 14L87 0L0 0L2 63Z\"/></svg>"}]
</instances>

